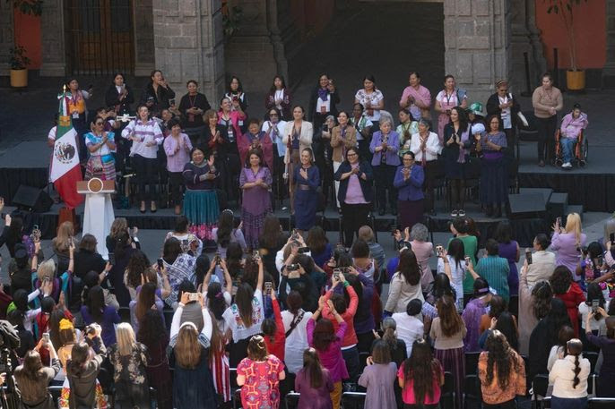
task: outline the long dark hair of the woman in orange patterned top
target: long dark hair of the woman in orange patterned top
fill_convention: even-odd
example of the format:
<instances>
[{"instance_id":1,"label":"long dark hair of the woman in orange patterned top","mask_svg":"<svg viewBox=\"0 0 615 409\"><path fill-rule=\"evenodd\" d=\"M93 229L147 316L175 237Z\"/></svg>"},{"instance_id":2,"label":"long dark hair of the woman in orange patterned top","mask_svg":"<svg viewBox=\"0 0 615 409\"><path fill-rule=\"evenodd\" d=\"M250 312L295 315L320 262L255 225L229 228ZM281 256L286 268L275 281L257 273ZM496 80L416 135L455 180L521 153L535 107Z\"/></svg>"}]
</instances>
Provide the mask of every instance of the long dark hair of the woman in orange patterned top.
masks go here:
<instances>
[{"instance_id":1,"label":"long dark hair of the woman in orange patterned top","mask_svg":"<svg viewBox=\"0 0 615 409\"><path fill-rule=\"evenodd\" d=\"M504 391L508 386L510 371L518 372L520 370L519 363L514 359L515 354L508 345L507 337L498 329L494 329L487 337L485 350L489 353L489 356L487 357L487 378L484 385L491 385L495 371L498 371L498 385Z\"/></svg>"}]
</instances>

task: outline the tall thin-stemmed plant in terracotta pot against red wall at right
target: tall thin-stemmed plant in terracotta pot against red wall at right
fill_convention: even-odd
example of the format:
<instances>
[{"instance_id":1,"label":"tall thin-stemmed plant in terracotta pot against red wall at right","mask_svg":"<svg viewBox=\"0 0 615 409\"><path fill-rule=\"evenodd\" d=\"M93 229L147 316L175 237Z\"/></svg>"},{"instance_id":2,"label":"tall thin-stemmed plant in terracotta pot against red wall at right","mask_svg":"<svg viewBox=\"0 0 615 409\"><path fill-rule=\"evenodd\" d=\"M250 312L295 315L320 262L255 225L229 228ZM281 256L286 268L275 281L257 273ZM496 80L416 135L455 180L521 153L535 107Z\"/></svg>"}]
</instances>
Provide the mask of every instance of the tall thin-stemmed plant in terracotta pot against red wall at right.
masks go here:
<instances>
[{"instance_id":1,"label":"tall thin-stemmed plant in terracotta pot against red wall at right","mask_svg":"<svg viewBox=\"0 0 615 409\"><path fill-rule=\"evenodd\" d=\"M543 0L548 2L547 13L555 13L561 17L566 29L568 52L570 54L570 67L566 72L566 88L569 90L585 89L585 71L576 66L576 38L574 16L578 13L578 5L587 3L587 0Z\"/></svg>"}]
</instances>

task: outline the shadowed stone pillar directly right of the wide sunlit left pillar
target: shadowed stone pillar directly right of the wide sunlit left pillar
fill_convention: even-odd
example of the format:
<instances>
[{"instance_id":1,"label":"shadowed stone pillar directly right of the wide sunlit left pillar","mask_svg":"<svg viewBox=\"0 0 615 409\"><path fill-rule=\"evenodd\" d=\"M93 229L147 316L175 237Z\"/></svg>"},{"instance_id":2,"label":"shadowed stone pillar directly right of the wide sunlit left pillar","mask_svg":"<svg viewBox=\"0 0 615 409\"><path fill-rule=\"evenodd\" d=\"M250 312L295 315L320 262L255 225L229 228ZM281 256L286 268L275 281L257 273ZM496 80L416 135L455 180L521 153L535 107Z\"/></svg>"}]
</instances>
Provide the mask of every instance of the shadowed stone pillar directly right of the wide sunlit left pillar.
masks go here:
<instances>
[{"instance_id":1,"label":"shadowed stone pillar directly right of the wide sunlit left pillar","mask_svg":"<svg viewBox=\"0 0 615 409\"><path fill-rule=\"evenodd\" d=\"M229 6L233 5L241 7L243 17L225 47L227 76L238 76L250 92L264 92L271 87L274 75L288 72L277 0L232 0Z\"/></svg>"}]
</instances>

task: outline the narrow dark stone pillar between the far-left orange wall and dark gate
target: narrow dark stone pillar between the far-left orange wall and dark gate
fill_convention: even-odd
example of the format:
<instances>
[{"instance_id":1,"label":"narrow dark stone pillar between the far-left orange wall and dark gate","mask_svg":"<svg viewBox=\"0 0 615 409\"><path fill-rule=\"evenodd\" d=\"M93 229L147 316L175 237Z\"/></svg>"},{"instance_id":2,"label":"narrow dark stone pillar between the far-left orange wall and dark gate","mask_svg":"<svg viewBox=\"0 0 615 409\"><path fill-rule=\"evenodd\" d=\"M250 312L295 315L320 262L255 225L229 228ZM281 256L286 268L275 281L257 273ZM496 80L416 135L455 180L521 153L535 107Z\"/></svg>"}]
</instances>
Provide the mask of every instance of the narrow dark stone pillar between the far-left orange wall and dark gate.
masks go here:
<instances>
[{"instance_id":1,"label":"narrow dark stone pillar between the far-left orange wall and dark gate","mask_svg":"<svg viewBox=\"0 0 615 409\"><path fill-rule=\"evenodd\" d=\"M64 1L45 0L40 14L41 77L66 75Z\"/></svg>"}]
</instances>

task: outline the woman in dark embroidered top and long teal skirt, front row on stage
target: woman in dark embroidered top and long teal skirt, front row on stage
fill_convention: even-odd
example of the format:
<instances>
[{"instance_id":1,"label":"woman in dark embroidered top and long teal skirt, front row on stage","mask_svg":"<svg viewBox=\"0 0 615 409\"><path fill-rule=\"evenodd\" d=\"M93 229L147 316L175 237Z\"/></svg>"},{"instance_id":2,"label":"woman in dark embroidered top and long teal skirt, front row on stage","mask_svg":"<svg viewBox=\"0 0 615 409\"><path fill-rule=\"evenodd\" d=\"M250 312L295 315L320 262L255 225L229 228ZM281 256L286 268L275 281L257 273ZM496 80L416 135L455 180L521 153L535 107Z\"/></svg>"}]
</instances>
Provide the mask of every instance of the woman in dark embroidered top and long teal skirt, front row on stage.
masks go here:
<instances>
[{"instance_id":1,"label":"woman in dark embroidered top and long teal skirt, front row on stage","mask_svg":"<svg viewBox=\"0 0 615 409\"><path fill-rule=\"evenodd\" d=\"M220 171L213 166L213 155L208 155L196 147L190 153L191 162L184 166L186 180L186 197L184 198L184 215L192 223L191 233L200 239L211 238L212 227L218 223L220 208L216 196L215 183Z\"/></svg>"}]
</instances>

